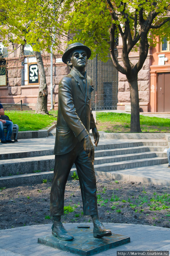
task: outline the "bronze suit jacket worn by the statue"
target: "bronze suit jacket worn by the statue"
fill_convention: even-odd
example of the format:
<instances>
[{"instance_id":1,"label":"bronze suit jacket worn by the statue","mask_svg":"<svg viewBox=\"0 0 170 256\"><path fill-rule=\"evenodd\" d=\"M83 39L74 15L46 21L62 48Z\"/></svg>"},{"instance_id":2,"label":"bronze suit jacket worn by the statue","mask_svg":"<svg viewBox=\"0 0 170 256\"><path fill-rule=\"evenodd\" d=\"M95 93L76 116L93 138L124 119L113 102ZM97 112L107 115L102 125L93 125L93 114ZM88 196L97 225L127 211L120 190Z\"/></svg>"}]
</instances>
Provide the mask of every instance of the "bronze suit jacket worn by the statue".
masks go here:
<instances>
[{"instance_id":1,"label":"bronze suit jacket worn by the statue","mask_svg":"<svg viewBox=\"0 0 170 256\"><path fill-rule=\"evenodd\" d=\"M91 109L92 79L85 77L72 68L59 82L55 155L70 152L96 127Z\"/></svg>"}]
</instances>

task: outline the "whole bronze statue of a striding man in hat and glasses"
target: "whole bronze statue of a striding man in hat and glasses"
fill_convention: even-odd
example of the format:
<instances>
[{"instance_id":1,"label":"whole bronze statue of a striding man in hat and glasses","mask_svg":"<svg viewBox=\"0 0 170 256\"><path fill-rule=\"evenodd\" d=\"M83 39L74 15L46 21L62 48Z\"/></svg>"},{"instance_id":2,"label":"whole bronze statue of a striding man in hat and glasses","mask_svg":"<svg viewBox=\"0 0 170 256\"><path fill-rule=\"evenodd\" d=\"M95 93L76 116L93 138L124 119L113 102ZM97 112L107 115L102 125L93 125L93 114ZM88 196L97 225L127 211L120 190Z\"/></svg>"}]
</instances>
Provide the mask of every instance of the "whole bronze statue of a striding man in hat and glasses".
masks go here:
<instances>
[{"instance_id":1,"label":"whole bronze statue of a striding man in hat and glasses","mask_svg":"<svg viewBox=\"0 0 170 256\"><path fill-rule=\"evenodd\" d=\"M75 163L83 201L84 215L91 215L94 224L93 236L111 236L99 220L97 211L96 177L94 171L94 146L89 136L92 129L94 143L99 142L91 109L92 79L85 68L91 50L81 44L70 44L62 60L71 71L61 79L58 89L58 118L54 147L54 177L50 194L50 212L53 216L52 234L60 240L72 240L63 224L65 185L71 167Z\"/></svg>"}]
</instances>

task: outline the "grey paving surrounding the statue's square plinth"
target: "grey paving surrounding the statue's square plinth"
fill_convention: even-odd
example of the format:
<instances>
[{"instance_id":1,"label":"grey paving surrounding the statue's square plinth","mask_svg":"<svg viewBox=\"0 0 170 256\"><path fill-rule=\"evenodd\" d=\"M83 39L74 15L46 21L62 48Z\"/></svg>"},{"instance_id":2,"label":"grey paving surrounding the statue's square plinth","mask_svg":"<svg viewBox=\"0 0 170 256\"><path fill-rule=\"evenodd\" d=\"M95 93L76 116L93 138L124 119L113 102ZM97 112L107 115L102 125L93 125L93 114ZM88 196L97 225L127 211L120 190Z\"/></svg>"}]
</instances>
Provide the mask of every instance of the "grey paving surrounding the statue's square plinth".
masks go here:
<instances>
[{"instance_id":1,"label":"grey paving surrounding the statue's square plinth","mask_svg":"<svg viewBox=\"0 0 170 256\"><path fill-rule=\"evenodd\" d=\"M83 223L85 224L85 223ZM92 223L91 228L93 227ZM73 225L64 224L69 230ZM116 255L116 251L165 251L170 250L170 228L154 227L139 224L114 224L105 223L106 228L111 229L115 234L129 236L131 242L110 249L96 256ZM76 255L70 252L54 249L37 243L38 237L51 234L51 225L33 225L20 228L0 230L0 255L1 256L71 256Z\"/></svg>"}]
</instances>

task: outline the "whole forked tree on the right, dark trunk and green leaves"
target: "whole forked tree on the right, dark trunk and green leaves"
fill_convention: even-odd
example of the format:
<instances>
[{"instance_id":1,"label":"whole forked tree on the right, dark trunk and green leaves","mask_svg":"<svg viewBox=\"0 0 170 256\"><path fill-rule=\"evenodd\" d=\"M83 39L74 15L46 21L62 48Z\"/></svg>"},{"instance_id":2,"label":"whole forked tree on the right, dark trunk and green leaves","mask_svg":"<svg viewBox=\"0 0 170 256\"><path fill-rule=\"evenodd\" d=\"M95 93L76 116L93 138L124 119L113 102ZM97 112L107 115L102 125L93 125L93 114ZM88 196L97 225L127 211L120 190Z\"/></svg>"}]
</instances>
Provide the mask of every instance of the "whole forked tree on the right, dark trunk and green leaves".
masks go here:
<instances>
[{"instance_id":1,"label":"whole forked tree on the right, dark trunk and green leaves","mask_svg":"<svg viewBox=\"0 0 170 256\"><path fill-rule=\"evenodd\" d=\"M170 39L170 3L167 0L65 0L64 5L63 26L69 31L71 42L85 43L92 49L92 57L98 53L104 61L110 50L116 69L126 75L131 98L131 132L141 132L137 76L157 36ZM115 55L118 35L122 38L123 65ZM130 61L131 51L139 51L135 63Z\"/></svg>"}]
</instances>

